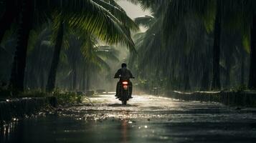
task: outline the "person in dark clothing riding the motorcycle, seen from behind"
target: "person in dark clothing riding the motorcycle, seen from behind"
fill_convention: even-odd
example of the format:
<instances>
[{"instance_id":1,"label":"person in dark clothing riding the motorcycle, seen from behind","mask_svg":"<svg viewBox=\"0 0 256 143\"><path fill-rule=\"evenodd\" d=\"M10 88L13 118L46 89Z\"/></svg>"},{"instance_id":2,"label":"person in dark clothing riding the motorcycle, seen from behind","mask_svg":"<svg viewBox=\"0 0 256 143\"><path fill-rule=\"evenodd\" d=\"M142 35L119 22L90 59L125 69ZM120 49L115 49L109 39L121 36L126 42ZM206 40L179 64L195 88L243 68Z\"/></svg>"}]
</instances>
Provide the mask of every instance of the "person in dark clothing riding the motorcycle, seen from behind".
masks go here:
<instances>
[{"instance_id":1,"label":"person in dark clothing riding the motorcycle, seen from behind","mask_svg":"<svg viewBox=\"0 0 256 143\"><path fill-rule=\"evenodd\" d=\"M129 95L129 98L133 98L131 97L131 93L133 92L133 83L130 81L131 78L134 78L133 77L133 74L131 74L131 71L129 69L126 68L127 67L127 64L123 63L122 64L122 68L121 69L118 69L118 71L115 73L115 78L120 78L118 84L116 85L116 94L115 94L115 97L118 99L119 97L119 92L120 91L120 84L121 84L121 81L123 80L127 80L129 82L129 84L131 85L130 87L130 95Z\"/></svg>"}]
</instances>

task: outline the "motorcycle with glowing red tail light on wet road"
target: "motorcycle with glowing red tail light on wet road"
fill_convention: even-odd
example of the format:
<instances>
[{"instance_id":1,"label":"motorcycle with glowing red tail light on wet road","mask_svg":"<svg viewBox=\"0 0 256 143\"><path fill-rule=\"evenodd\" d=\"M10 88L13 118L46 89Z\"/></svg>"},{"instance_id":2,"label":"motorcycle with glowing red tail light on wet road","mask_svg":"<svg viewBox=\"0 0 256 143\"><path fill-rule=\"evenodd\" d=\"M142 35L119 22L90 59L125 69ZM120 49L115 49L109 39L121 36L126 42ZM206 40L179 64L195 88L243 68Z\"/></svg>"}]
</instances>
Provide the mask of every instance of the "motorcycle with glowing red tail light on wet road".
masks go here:
<instances>
[{"instance_id":1,"label":"motorcycle with glowing red tail light on wet road","mask_svg":"<svg viewBox=\"0 0 256 143\"><path fill-rule=\"evenodd\" d=\"M134 79L134 77L132 77ZM123 105L127 104L127 101L130 99L132 84L129 80L121 80L119 84L118 93L116 93L119 97L119 100L122 102Z\"/></svg>"}]
</instances>

